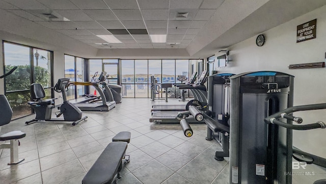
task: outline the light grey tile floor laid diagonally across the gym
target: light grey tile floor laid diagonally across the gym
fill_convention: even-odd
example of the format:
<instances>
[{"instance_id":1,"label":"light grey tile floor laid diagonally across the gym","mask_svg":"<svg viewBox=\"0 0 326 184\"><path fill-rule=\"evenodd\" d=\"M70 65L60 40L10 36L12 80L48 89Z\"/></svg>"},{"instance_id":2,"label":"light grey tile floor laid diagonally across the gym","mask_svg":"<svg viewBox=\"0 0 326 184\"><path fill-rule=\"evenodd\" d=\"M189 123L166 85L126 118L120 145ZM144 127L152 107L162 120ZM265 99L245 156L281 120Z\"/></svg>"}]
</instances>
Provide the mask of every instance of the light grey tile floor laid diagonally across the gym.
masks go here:
<instances>
[{"instance_id":1,"label":"light grey tile floor laid diagonally across the gym","mask_svg":"<svg viewBox=\"0 0 326 184\"><path fill-rule=\"evenodd\" d=\"M169 104L181 103L169 100ZM22 130L27 135L20 140L22 163L8 166L9 149L0 150L0 183L82 183L102 150L121 131L131 132L131 141L126 151L130 163L119 184L229 183L228 158L214 160L221 146L205 140L205 124L192 124L194 135L186 138L179 124L149 122L154 103L166 102L124 98L109 112L84 112L88 119L76 126L64 122L25 125L35 115L3 126L1 134Z\"/></svg>"}]
</instances>

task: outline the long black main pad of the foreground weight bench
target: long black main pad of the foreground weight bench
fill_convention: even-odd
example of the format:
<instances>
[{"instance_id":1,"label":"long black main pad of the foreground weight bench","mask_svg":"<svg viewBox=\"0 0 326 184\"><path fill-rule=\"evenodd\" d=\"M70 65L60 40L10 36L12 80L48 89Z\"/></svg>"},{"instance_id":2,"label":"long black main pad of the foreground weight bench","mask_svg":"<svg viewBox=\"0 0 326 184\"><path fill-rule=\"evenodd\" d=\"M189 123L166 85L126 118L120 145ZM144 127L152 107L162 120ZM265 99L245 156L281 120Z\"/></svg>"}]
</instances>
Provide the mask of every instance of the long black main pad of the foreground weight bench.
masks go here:
<instances>
[{"instance_id":1,"label":"long black main pad of the foreground weight bench","mask_svg":"<svg viewBox=\"0 0 326 184\"><path fill-rule=\"evenodd\" d=\"M112 183L124 158L126 149L126 142L111 142L108 144L83 178L82 183Z\"/></svg>"}]
</instances>

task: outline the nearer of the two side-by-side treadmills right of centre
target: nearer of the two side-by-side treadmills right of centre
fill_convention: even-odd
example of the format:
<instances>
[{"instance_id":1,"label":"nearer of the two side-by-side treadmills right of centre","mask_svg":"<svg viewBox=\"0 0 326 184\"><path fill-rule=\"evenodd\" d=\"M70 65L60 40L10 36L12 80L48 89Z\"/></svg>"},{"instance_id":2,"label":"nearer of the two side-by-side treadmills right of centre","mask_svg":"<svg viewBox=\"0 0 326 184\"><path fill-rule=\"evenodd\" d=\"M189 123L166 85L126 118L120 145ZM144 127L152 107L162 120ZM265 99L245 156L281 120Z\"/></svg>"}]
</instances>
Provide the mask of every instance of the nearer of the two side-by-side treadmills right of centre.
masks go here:
<instances>
[{"instance_id":1,"label":"nearer of the two side-by-side treadmills right of centre","mask_svg":"<svg viewBox=\"0 0 326 184\"><path fill-rule=\"evenodd\" d=\"M199 78L199 82L196 86L184 86L180 87L180 89L191 89L194 94L202 96L201 99L206 99L203 101L201 106L206 106L207 104L207 90L204 83L207 81L207 70L204 70L201 77ZM202 92L199 92L202 91ZM206 96L204 96L206 95ZM169 106L165 106L169 107ZM166 110L166 111L152 111L152 117L149 119L149 122L155 123L180 123L180 120L176 119L178 114L181 111L186 111L185 105L182 106L183 109L180 110ZM161 108L162 109L162 108ZM186 118L188 123L205 123L205 121L197 121L192 115Z\"/></svg>"}]
</instances>

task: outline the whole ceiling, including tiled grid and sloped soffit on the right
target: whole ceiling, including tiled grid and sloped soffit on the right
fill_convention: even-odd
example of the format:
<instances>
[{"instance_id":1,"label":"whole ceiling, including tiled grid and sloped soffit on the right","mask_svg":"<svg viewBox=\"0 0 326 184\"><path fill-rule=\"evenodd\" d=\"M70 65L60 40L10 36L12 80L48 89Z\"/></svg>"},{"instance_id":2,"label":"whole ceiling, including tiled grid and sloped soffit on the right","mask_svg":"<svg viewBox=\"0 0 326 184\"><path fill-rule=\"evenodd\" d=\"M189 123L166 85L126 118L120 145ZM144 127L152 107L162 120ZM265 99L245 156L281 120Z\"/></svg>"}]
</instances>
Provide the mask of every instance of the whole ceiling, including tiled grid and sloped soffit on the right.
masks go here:
<instances>
[{"instance_id":1,"label":"whole ceiling, including tiled grid and sloped soffit on the right","mask_svg":"<svg viewBox=\"0 0 326 184\"><path fill-rule=\"evenodd\" d=\"M141 55L146 56L158 48L204 58L325 4L324 0L0 0L0 9L101 53L108 49L121 55L128 49L143 50ZM152 43L149 35L162 34L167 35L166 43ZM107 44L96 35L114 35L122 43Z\"/></svg>"}]
</instances>

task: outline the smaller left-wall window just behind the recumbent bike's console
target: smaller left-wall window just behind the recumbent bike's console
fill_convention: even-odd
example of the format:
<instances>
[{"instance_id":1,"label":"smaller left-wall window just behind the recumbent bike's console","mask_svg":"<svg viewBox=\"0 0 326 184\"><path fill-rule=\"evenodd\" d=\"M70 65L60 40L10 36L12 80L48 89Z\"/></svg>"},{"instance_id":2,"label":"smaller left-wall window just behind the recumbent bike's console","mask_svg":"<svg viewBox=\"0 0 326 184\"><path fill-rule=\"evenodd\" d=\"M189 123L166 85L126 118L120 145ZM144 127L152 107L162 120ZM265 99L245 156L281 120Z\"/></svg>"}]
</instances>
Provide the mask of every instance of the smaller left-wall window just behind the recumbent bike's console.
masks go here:
<instances>
[{"instance_id":1,"label":"smaller left-wall window just behind the recumbent bike's console","mask_svg":"<svg viewBox=\"0 0 326 184\"><path fill-rule=\"evenodd\" d=\"M72 82L85 82L85 59L65 55L65 77ZM71 85L68 87L67 99L85 95L85 86Z\"/></svg>"}]
</instances>

